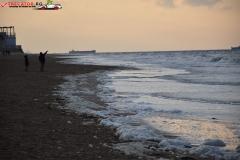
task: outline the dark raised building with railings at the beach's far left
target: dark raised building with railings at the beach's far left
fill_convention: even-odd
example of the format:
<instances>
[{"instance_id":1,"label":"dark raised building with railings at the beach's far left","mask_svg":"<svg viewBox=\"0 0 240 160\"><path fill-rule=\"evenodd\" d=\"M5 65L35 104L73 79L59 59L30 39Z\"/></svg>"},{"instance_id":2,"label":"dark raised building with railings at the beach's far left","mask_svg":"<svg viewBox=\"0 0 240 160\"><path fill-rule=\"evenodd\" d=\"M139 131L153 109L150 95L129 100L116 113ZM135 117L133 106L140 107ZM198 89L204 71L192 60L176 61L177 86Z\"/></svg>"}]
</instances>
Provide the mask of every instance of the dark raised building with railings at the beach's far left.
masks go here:
<instances>
[{"instance_id":1,"label":"dark raised building with railings at the beach's far left","mask_svg":"<svg viewBox=\"0 0 240 160\"><path fill-rule=\"evenodd\" d=\"M0 51L22 52L22 46L16 45L16 33L14 26L0 27Z\"/></svg>"}]
</instances>

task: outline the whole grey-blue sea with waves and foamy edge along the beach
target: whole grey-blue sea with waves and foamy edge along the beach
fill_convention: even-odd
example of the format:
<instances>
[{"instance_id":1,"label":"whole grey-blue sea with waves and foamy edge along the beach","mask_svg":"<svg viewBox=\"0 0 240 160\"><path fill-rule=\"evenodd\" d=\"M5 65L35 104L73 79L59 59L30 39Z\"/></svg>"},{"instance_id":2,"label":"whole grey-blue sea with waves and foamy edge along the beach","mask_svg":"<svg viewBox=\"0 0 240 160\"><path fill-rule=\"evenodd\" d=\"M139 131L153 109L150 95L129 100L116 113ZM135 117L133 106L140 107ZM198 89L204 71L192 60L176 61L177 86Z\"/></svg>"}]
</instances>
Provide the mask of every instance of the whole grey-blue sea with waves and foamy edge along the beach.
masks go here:
<instances>
[{"instance_id":1,"label":"whole grey-blue sea with waves and foamy edge along the beach","mask_svg":"<svg viewBox=\"0 0 240 160\"><path fill-rule=\"evenodd\" d=\"M176 157L240 159L240 50L63 57L68 59L62 63L123 67L65 76L59 91L68 99L60 108L99 116L101 125L116 129L124 143L113 148L140 157L163 151ZM85 87L91 86L91 78L98 81L97 88ZM88 95L106 105L85 98Z\"/></svg>"}]
</instances>

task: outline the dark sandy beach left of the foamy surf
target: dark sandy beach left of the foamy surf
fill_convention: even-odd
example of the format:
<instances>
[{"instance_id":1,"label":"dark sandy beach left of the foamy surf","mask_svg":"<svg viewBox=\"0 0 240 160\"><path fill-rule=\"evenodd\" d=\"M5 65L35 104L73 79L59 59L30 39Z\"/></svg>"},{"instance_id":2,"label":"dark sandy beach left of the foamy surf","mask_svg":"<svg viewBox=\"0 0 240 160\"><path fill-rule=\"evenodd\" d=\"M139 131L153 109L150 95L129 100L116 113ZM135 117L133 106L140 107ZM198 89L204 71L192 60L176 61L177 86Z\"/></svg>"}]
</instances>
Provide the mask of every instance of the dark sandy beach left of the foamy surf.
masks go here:
<instances>
[{"instance_id":1,"label":"dark sandy beach left of the foamy surf","mask_svg":"<svg viewBox=\"0 0 240 160\"><path fill-rule=\"evenodd\" d=\"M102 145L121 141L114 130L98 125L97 117L57 109L66 102L52 92L63 82L60 76L118 67L61 64L58 60L46 55L45 71L40 72L38 55L29 55L29 71L25 72L23 54L0 56L0 159L138 159ZM95 124L82 125L90 120Z\"/></svg>"}]
</instances>

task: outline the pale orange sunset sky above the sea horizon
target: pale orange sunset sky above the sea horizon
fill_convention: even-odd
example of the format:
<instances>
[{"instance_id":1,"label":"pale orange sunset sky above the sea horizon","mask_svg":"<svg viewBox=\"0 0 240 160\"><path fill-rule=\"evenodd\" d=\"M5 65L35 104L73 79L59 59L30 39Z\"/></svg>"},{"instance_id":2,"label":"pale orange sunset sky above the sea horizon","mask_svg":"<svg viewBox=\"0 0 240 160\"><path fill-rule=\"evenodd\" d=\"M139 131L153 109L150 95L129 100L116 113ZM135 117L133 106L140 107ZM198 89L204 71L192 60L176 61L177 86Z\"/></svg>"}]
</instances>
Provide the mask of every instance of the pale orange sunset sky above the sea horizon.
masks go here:
<instances>
[{"instance_id":1,"label":"pale orange sunset sky above the sea horizon","mask_svg":"<svg viewBox=\"0 0 240 160\"><path fill-rule=\"evenodd\" d=\"M24 0L0 0L5 2ZM27 0L28 1L28 0ZM30 0L42 2L47 0ZM57 11L0 8L25 53L175 51L240 46L240 0L53 0Z\"/></svg>"}]
</instances>

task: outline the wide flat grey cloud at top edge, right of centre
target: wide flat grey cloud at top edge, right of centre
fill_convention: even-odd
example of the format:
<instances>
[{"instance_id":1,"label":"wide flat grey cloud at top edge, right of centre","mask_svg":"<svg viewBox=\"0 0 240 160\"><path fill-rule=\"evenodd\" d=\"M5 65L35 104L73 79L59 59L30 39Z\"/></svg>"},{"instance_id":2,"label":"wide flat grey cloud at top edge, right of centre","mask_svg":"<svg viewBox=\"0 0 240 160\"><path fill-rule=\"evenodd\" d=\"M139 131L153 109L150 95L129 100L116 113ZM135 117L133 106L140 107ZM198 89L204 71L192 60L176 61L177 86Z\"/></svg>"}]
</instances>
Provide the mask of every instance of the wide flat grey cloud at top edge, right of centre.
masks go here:
<instances>
[{"instance_id":1,"label":"wide flat grey cloud at top edge, right of centre","mask_svg":"<svg viewBox=\"0 0 240 160\"><path fill-rule=\"evenodd\" d=\"M216 3L221 2L222 0L184 0L183 4L190 6L208 6L212 7Z\"/></svg>"}]
</instances>

